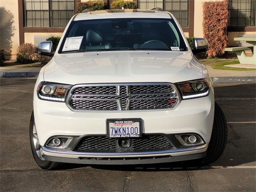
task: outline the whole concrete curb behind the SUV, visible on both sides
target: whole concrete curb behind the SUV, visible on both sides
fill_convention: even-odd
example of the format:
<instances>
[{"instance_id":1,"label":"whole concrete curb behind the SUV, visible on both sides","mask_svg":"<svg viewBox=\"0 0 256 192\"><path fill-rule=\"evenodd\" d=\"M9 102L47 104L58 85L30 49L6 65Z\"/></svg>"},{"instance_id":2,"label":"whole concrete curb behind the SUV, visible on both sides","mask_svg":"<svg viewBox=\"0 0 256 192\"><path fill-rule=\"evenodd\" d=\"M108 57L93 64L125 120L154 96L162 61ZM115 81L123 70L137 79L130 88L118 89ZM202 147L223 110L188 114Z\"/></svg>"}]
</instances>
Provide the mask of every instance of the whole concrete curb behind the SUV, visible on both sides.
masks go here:
<instances>
[{"instance_id":1,"label":"whole concrete curb behind the SUV, visible on both sides","mask_svg":"<svg viewBox=\"0 0 256 192\"><path fill-rule=\"evenodd\" d=\"M0 72L0 77L37 77L39 72ZM213 83L255 83L256 76L211 77Z\"/></svg>"}]
</instances>

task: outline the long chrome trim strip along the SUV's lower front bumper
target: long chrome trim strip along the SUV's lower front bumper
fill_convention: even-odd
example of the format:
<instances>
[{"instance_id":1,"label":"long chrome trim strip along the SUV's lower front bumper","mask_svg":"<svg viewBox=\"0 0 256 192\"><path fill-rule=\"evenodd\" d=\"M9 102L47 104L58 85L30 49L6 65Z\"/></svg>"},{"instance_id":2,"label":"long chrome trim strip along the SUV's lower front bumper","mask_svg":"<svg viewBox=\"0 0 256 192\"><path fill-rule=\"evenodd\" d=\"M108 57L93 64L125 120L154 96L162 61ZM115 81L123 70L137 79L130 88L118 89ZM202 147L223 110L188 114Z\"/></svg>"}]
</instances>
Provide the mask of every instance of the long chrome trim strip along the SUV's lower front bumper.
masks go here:
<instances>
[{"instance_id":1,"label":"long chrome trim strip along the SUV's lower front bumper","mask_svg":"<svg viewBox=\"0 0 256 192\"><path fill-rule=\"evenodd\" d=\"M195 146L195 147L188 147L188 148L179 148L179 149L172 149L172 150L162 150L162 151L148 151L148 152L115 152L115 153L96 153L96 152L75 152L75 151L68 151L68 150L53 150L47 147L42 146L42 150L46 155L49 156L70 156L71 158L75 157L146 157L146 156L164 156L164 155L171 155L171 156L179 156L189 154L189 152L194 151L194 153L204 152L207 150L208 143ZM188 152L188 153L187 153ZM58 154L58 155L57 155Z\"/></svg>"}]
</instances>

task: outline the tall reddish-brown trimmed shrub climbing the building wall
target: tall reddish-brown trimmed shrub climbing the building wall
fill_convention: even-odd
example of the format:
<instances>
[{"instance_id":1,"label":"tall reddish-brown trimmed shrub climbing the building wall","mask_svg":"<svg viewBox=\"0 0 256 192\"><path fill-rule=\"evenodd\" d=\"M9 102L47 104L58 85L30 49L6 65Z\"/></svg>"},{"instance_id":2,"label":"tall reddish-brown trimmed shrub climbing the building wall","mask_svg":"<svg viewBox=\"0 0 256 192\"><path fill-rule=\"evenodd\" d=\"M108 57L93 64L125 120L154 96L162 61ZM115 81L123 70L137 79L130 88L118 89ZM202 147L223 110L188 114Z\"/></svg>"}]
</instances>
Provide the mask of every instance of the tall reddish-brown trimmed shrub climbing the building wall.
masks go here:
<instances>
[{"instance_id":1,"label":"tall reddish-brown trimmed shrub climbing the building wall","mask_svg":"<svg viewBox=\"0 0 256 192\"><path fill-rule=\"evenodd\" d=\"M228 46L228 2L203 3L203 32L208 40L208 57L221 56Z\"/></svg>"}]
</instances>

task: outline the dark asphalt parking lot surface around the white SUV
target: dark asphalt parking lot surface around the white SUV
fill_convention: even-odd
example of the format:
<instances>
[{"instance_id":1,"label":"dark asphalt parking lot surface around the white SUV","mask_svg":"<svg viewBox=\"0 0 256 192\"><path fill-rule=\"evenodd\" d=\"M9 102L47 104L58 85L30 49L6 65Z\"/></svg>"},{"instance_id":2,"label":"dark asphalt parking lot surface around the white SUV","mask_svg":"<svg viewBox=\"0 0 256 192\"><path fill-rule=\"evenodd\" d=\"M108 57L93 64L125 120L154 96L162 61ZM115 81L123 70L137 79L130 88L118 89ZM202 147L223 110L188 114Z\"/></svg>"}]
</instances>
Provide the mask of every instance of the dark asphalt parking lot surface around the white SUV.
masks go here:
<instances>
[{"instance_id":1,"label":"dark asphalt parking lot surface around the white SUV","mask_svg":"<svg viewBox=\"0 0 256 192\"><path fill-rule=\"evenodd\" d=\"M0 80L0 190L5 191L255 191L256 85L215 84L228 122L228 143L208 167L66 164L41 170L29 144L35 78ZM49 125L50 126L50 125Z\"/></svg>"}]
</instances>

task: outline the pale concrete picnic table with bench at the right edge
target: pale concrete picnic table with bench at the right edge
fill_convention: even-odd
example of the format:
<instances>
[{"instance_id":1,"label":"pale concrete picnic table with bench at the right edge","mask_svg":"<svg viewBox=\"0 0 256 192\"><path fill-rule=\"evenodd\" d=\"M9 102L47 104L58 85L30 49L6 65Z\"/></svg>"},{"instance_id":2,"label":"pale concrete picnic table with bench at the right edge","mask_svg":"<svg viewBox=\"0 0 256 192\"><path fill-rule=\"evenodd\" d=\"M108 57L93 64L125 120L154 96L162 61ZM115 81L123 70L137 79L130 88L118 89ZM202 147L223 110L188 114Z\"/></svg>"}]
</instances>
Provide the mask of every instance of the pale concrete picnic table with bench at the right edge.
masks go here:
<instances>
[{"instance_id":1,"label":"pale concrete picnic table with bench at the right edge","mask_svg":"<svg viewBox=\"0 0 256 192\"><path fill-rule=\"evenodd\" d=\"M256 65L256 36L255 37L235 37L234 41L246 41L252 44L252 47L230 47L225 48L225 51L236 52L238 60L241 64ZM252 57L246 56L244 50L252 50Z\"/></svg>"}]
</instances>

